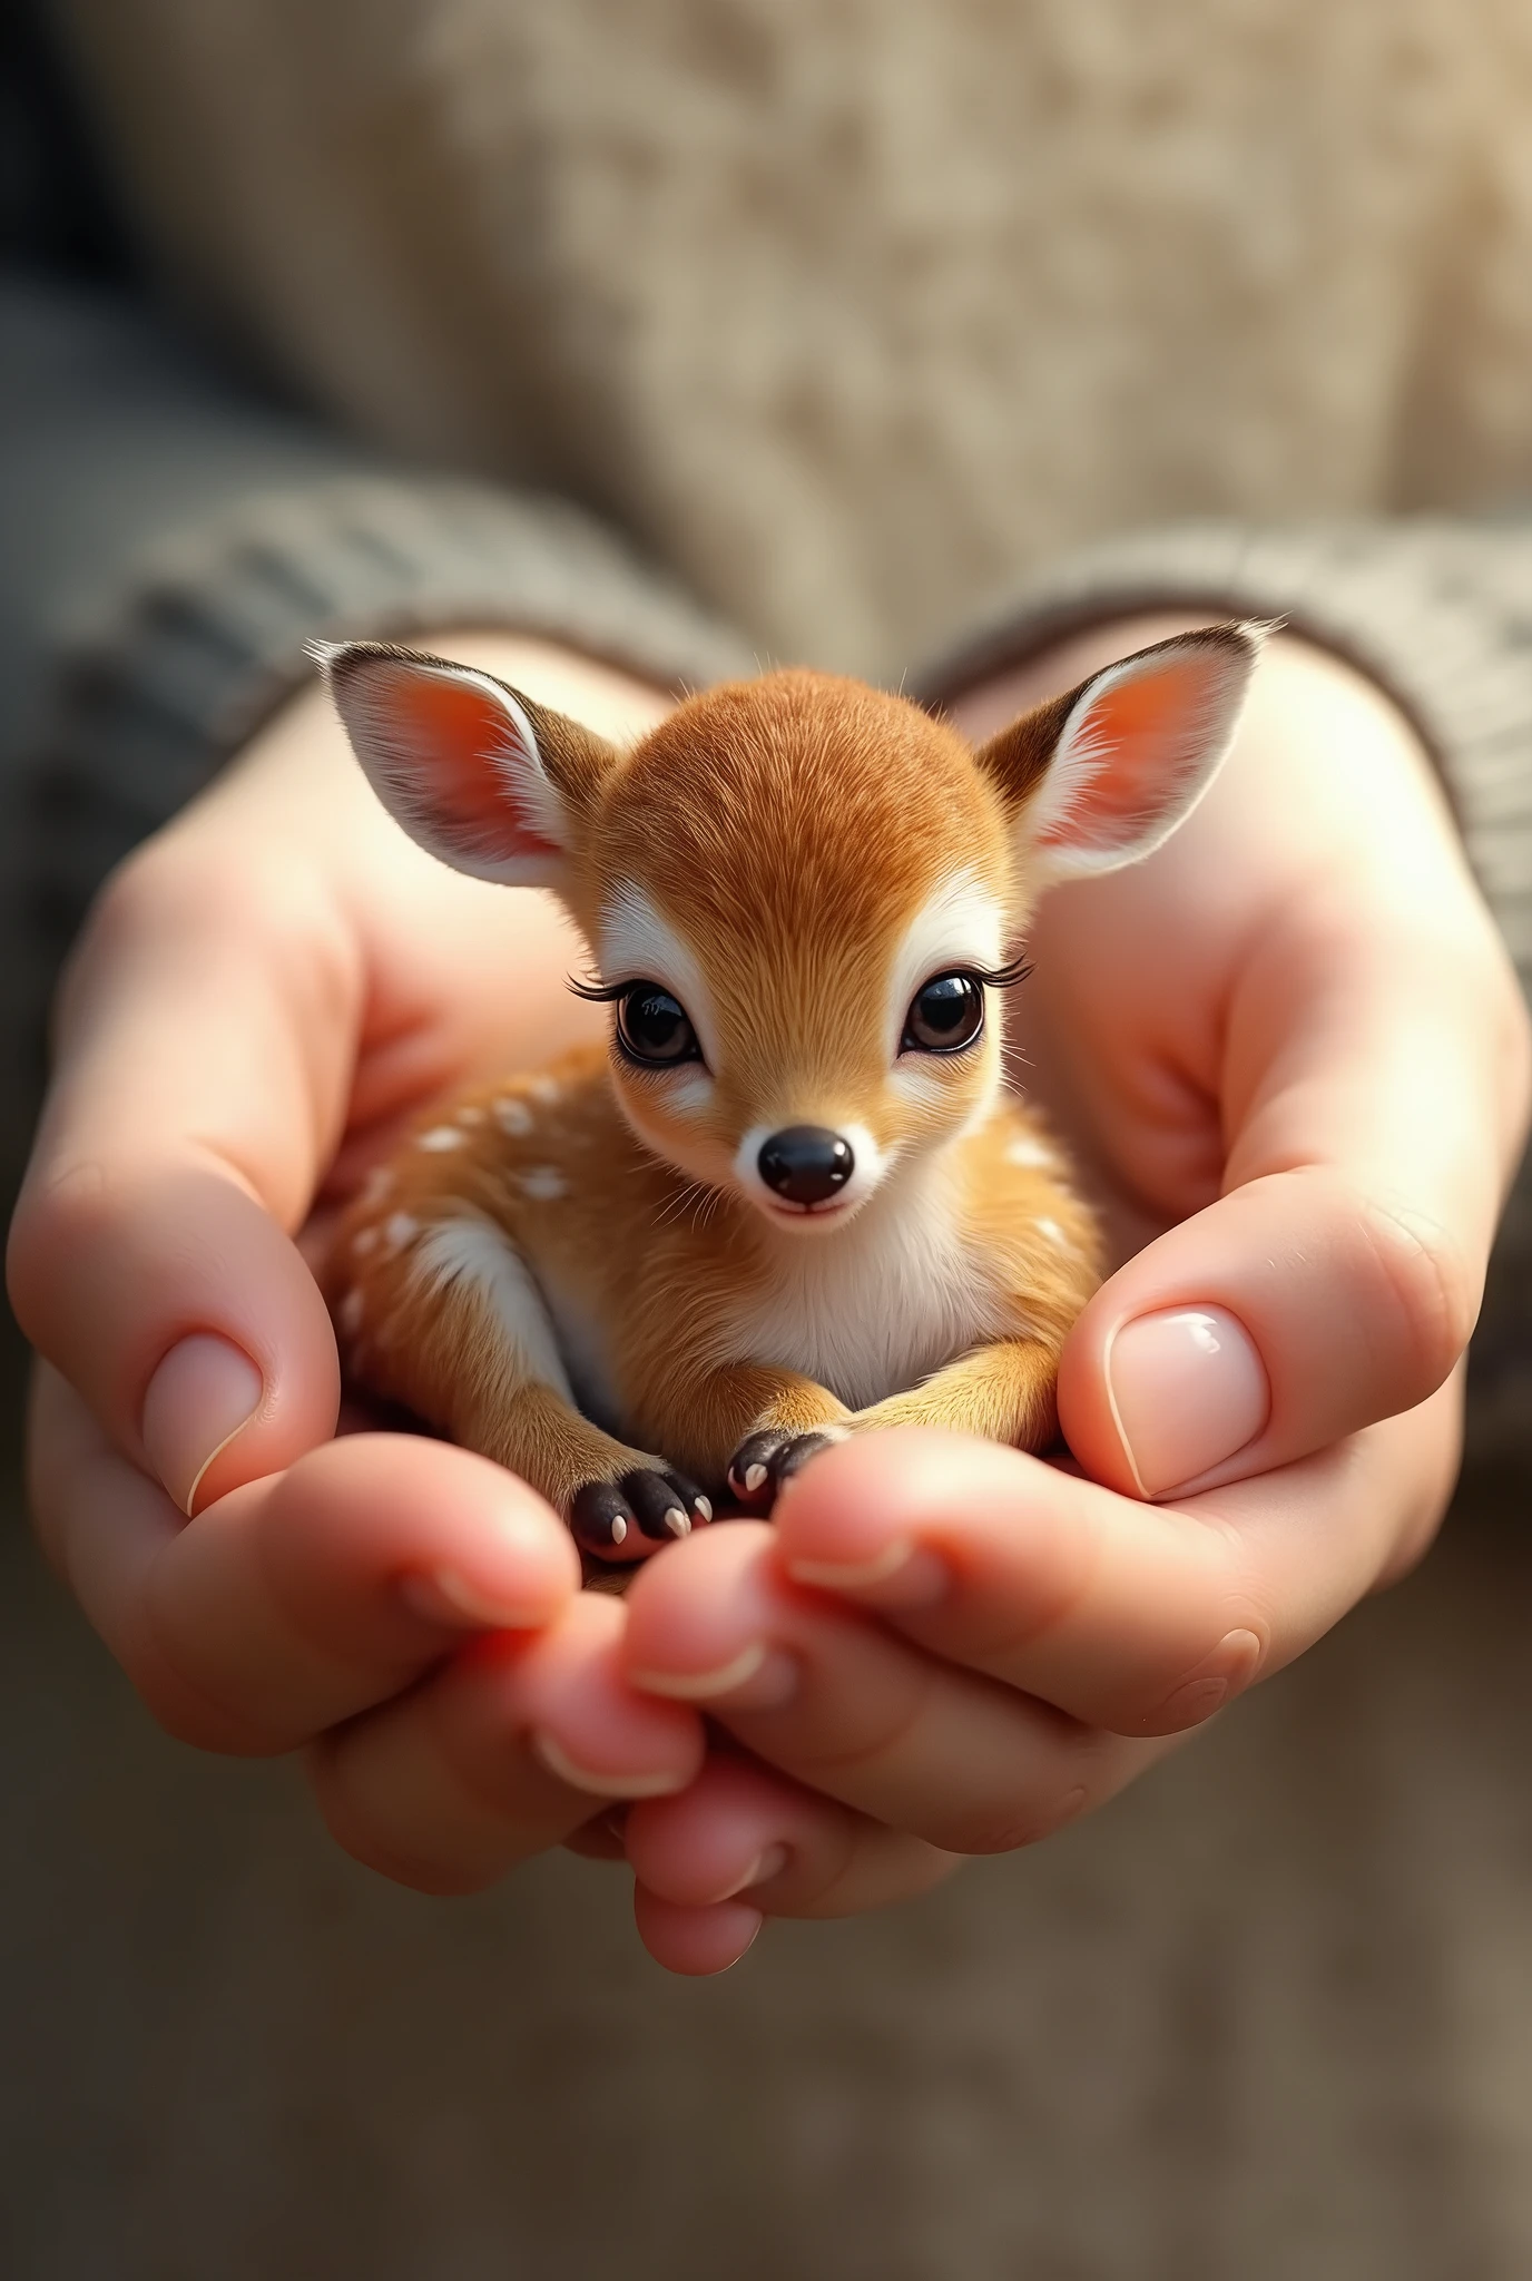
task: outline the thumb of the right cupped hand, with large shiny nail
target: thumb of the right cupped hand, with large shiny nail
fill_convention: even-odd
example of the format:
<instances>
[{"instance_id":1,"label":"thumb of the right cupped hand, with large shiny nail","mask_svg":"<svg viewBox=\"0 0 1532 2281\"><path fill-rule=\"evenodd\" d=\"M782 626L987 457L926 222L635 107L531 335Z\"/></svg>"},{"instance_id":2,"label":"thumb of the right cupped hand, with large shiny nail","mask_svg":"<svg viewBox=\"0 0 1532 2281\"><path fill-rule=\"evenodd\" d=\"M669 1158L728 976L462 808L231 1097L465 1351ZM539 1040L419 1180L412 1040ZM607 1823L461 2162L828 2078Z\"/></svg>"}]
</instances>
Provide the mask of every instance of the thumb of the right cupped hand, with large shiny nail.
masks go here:
<instances>
[{"instance_id":1,"label":"thumb of the right cupped hand, with large shiny nail","mask_svg":"<svg viewBox=\"0 0 1532 2281\"><path fill-rule=\"evenodd\" d=\"M1518 1024L1473 912L1404 928L1311 894L1261 935L1224 1045L1229 1193L1113 1275L1065 1346L1060 1423L1090 1474L1188 1496L1448 1378L1521 1129Z\"/></svg>"}]
</instances>

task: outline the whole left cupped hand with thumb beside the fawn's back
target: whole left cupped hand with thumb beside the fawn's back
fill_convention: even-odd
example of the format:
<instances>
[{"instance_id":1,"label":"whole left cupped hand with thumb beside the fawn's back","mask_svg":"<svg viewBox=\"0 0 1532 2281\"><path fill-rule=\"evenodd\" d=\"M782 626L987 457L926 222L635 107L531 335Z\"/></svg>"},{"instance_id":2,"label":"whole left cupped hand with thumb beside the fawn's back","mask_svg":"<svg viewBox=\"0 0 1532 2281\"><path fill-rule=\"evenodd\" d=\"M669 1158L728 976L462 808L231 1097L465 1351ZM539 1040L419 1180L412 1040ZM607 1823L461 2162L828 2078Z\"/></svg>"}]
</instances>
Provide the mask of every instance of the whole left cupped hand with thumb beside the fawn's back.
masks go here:
<instances>
[{"instance_id":1,"label":"whole left cupped hand with thumb beside the fawn's back","mask_svg":"<svg viewBox=\"0 0 1532 2281\"><path fill-rule=\"evenodd\" d=\"M625 734L668 700L538 643L442 636ZM401 1118L593 1022L540 896L461 880L296 700L109 883L59 1004L9 1284L39 1348L43 1544L150 1711L308 1745L335 1836L463 1891L702 1761L620 1677L556 1515L499 1467L333 1439L308 1268Z\"/></svg>"}]
</instances>

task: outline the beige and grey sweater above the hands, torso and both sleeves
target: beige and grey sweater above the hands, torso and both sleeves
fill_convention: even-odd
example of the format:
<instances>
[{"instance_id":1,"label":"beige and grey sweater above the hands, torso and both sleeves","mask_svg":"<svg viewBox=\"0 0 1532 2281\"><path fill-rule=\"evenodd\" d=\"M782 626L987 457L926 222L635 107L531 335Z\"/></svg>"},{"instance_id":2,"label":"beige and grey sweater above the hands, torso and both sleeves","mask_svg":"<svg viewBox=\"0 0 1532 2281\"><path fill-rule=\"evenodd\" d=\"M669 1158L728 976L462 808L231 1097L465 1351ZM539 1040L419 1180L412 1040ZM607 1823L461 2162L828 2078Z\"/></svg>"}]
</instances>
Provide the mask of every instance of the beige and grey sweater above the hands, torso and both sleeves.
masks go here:
<instances>
[{"instance_id":1,"label":"beige and grey sweater above the hands, torso and both sleeves","mask_svg":"<svg viewBox=\"0 0 1532 2281\"><path fill-rule=\"evenodd\" d=\"M141 310L0 310L0 518L48 531L0 586L46 940L312 632L476 618L670 682L773 655L942 693L1185 602L1397 696L1532 979L1518 0L57 0L55 30L146 274L285 408ZM1511 1412L1530 1252L1518 1204L1480 1341Z\"/></svg>"}]
</instances>

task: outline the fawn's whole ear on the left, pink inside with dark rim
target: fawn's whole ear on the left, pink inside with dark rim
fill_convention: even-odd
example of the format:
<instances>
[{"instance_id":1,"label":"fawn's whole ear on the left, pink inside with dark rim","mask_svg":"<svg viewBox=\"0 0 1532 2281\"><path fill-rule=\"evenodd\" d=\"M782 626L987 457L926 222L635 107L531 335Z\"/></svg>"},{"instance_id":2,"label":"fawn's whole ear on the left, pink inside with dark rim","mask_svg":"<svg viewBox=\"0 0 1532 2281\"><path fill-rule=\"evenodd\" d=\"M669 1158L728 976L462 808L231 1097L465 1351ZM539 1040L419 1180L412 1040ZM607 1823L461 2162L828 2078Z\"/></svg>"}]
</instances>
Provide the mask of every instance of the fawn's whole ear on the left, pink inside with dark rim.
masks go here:
<instances>
[{"instance_id":1,"label":"fawn's whole ear on the left, pink inside with dark rim","mask_svg":"<svg viewBox=\"0 0 1532 2281\"><path fill-rule=\"evenodd\" d=\"M616 746L492 673L381 641L315 652L390 817L470 878L556 887Z\"/></svg>"}]
</instances>

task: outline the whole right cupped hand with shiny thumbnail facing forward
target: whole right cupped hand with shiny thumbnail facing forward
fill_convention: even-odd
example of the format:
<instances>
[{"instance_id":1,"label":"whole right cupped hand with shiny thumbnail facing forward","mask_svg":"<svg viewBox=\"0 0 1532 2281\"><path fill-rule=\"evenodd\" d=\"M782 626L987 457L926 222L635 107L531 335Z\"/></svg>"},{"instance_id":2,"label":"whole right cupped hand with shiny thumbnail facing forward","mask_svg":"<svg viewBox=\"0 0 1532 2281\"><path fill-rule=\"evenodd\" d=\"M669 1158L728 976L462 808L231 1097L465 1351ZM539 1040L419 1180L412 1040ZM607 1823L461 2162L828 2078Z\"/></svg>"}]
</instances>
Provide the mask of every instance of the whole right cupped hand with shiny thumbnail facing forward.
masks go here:
<instances>
[{"instance_id":1,"label":"whole right cupped hand with shiny thumbnail facing forward","mask_svg":"<svg viewBox=\"0 0 1532 2281\"><path fill-rule=\"evenodd\" d=\"M1101 630L973 691L985 734L1172 632ZM1448 1503L1461 1353L1527 1115L1527 1020L1413 732L1272 643L1236 750L1149 862L1044 903L1019 1077L1124 1266L1062 1357L1078 1471L932 1435L841 1444L775 1528L673 1547L625 1663L848 1818L894 1875L1021 1845L1402 1574ZM834 1902L757 1811L764 1909ZM629 1850L654 1932L725 1941L688 1800ZM647 1861L645 1832L677 1859ZM885 1884L889 1882L885 1861ZM802 1868L800 1868L802 1864ZM709 1909L714 1914L709 1914Z\"/></svg>"}]
</instances>

